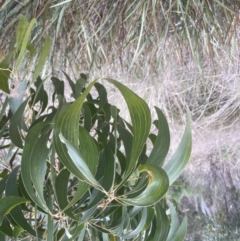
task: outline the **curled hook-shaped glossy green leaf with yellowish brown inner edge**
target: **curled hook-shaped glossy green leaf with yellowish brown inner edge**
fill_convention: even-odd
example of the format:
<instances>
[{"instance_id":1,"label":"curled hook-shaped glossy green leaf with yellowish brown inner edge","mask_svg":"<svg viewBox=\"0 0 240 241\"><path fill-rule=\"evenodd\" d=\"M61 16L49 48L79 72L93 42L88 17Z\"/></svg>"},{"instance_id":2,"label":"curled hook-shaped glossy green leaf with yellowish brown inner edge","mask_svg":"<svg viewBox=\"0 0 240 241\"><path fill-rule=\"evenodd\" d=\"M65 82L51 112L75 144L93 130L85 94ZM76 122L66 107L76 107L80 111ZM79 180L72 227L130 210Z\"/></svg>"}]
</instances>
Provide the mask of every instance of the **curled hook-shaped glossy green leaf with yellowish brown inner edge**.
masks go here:
<instances>
[{"instance_id":1,"label":"curled hook-shaped glossy green leaf with yellowish brown inner edge","mask_svg":"<svg viewBox=\"0 0 240 241\"><path fill-rule=\"evenodd\" d=\"M119 198L120 201L128 205L150 206L164 197L169 188L169 179L165 171L152 164L144 164L138 168L139 173L145 171L148 173L146 189L137 197Z\"/></svg>"}]
</instances>

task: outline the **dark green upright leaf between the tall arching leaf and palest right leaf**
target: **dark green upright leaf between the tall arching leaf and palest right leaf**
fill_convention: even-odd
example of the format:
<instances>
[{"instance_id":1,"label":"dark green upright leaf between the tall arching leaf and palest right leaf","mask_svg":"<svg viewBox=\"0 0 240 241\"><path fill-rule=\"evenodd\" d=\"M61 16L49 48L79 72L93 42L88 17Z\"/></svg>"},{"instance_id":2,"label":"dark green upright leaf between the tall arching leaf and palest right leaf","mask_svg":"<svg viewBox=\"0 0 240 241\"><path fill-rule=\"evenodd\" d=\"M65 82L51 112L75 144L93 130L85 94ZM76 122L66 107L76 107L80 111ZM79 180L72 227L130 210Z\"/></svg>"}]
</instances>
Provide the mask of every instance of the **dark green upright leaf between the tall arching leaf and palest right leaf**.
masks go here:
<instances>
[{"instance_id":1,"label":"dark green upright leaf between the tall arching leaf and palest right leaf","mask_svg":"<svg viewBox=\"0 0 240 241\"><path fill-rule=\"evenodd\" d=\"M147 160L147 163L155 164L161 166L167 156L169 146L170 146L170 132L167 120L162 113L162 111L155 107L158 115L158 135L155 140L151 154Z\"/></svg>"}]
</instances>

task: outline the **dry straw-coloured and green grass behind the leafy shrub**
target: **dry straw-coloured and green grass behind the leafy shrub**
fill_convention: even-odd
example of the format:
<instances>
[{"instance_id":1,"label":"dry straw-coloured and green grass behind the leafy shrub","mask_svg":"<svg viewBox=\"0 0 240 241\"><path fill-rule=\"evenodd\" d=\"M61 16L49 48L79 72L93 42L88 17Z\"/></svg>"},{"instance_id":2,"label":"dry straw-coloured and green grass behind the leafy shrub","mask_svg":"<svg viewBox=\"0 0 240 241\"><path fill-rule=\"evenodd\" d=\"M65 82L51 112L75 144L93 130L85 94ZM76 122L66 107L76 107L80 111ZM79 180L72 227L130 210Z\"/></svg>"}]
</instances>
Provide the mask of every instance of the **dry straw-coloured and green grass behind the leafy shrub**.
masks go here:
<instances>
[{"instance_id":1,"label":"dry straw-coloured and green grass behind the leafy shrub","mask_svg":"<svg viewBox=\"0 0 240 241\"><path fill-rule=\"evenodd\" d=\"M193 155L182 177L187 186L176 193L182 210L202 222L201 232L199 225L190 227L188 239L225 240L227 234L237 240L239 9L237 0L2 1L1 55L7 54L19 15L36 18L34 51L21 71L13 69L13 85L33 71L48 35L52 45L43 77L61 78L62 69L75 77L85 71L122 80L171 120L172 149L188 106Z\"/></svg>"}]
</instances>

